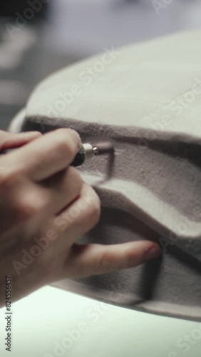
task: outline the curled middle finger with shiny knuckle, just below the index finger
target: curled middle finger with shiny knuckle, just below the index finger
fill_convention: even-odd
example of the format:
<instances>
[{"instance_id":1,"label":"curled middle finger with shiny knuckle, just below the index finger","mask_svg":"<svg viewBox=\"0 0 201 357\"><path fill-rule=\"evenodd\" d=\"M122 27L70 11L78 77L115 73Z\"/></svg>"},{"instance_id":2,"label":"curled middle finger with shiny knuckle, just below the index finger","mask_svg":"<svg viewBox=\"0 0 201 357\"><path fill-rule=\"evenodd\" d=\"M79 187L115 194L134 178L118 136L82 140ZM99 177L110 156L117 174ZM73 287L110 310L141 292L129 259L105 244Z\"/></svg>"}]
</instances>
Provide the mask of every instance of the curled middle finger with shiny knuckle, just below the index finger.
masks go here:
<instances>
[{"instance_id":1,"label":"curled middle finger with shiny knuckle, just below the index finger","mask_svg":"<svg viewBox=\"0 0 201 357\"><path fill-rule=\"evenodd\" d=\"M31 221L40 223L56 216L81 195L82 186L81 176L73 167L68 167L41 184L15 174L1 177L1 237L15 226L30 225ZM77 209L73 206L71 208ZM66 214L66 211L63 212L63 216Z\"/></svg>"}]
</instances>

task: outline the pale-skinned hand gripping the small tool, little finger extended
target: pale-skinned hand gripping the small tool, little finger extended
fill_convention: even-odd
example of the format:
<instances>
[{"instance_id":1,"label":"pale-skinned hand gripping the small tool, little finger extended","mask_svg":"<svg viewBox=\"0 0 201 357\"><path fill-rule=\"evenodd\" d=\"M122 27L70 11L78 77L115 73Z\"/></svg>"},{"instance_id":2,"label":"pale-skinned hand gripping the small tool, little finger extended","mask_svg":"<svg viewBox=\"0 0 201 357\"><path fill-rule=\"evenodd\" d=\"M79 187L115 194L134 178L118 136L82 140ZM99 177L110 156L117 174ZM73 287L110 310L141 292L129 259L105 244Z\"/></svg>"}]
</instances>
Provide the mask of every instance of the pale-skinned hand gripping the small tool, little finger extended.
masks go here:
<instances>
[{"instance_id":1,"label":"pale-skinned hand gripping the small tool, little finger extended","mask_svg":"<svg viewBox=\"0 0 201 357\"><path fill-rule=\"evenodd\" d=\"M153 241L76 243L100 219L96 192L70 165L80 146L71 129L43 136L0 131L0 151L15 149L0 156L0 306L5 305L6 276L17 301L63 278L111 273L160 256ZM73 218L72 212L77 212ZM24 250L30 253L47 236L48 246L35 248L37 256L24 263Z\"/></svg>"}]
</instances>

